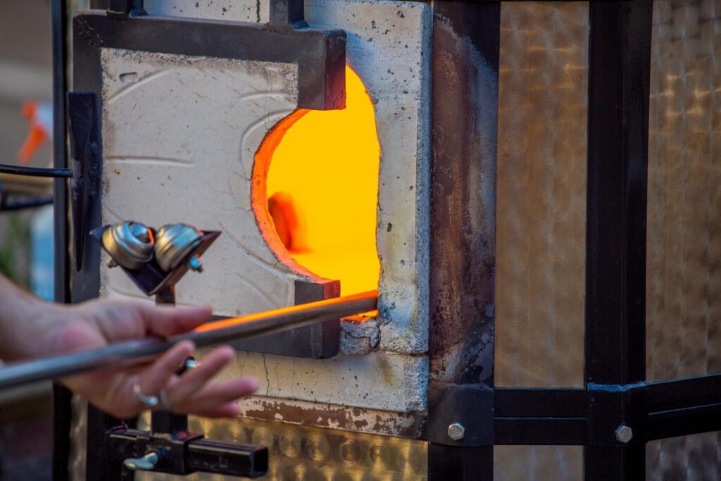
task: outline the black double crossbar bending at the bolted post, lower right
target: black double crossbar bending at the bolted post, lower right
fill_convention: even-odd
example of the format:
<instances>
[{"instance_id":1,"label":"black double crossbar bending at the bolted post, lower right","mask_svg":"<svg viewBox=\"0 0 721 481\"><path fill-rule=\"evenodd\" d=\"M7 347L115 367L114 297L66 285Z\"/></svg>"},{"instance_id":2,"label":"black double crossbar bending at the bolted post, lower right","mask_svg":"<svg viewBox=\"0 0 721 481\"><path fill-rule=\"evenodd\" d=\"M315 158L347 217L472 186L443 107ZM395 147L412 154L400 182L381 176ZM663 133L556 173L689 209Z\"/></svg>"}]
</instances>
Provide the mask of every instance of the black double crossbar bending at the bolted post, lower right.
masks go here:
<instances>
[{"instance_id":1,"label":"black double crossbar bending at the bolted post, lower right","mask_svg":"<svg viewBox=\"0 0 721 481\"><path fill-rule=\"evenodd\" d=\"M492 399L496 445L632 449L721 431L721 374L588 389L495 388ZM441 427L429 425L429 440Z\"/></svg>"}]
</instances>

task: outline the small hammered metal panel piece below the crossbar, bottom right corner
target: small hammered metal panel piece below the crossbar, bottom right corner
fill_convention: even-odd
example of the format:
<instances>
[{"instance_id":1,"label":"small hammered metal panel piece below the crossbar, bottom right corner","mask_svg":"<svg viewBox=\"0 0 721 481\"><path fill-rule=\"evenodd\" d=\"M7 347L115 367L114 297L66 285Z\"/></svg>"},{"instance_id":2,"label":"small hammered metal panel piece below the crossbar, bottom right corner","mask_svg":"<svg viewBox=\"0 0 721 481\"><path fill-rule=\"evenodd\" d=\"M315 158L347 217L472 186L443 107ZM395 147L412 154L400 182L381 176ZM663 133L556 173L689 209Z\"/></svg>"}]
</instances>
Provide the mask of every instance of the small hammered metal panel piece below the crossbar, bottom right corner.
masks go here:
<instances>
[{"instance_id":1,"label":"small hammered metal panel piece below the crossbar, bottom right corner","mask_svg":"<svg viewBox=\"0 0 721 481\"><path fill-rule=\"evenodd\" d=\"M721 480L721 433L651 441L646 445L646 479Z\"/></svg>"}]
</instances>

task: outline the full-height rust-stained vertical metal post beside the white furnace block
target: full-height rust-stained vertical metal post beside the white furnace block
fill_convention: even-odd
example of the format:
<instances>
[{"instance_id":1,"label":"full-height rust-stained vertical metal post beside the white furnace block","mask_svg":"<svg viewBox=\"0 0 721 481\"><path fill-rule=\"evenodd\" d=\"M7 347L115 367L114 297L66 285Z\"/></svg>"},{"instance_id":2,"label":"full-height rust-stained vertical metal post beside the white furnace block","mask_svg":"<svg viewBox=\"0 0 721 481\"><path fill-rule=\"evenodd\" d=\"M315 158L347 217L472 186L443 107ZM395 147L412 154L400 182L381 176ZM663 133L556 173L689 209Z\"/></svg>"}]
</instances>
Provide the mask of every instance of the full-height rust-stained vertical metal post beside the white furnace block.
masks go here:
<instances>
[{"instance_id":1,"label":"full-height rust-stained vertical metal post beside the white furnace block","mask_svg":"<svg viewBox=\"0 0 721 481\"><path fill-rule=\"evenodd\" d=\"M428 470L490 480L500 2L433 13Z\"/></svg>"}]
</instances>

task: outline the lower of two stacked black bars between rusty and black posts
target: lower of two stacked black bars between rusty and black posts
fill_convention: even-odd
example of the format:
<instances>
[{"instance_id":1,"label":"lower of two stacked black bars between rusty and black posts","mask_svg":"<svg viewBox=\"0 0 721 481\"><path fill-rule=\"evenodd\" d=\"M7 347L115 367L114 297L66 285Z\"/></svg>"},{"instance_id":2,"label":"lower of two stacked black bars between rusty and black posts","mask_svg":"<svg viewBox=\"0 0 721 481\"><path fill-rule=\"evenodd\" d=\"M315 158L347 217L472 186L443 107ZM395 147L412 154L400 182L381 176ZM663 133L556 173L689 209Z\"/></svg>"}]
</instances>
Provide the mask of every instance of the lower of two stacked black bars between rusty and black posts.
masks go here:
<instances>
[{"instance_id":1,"label":"lower of two stacked black bars between rusty and black posts","mask_svg":"<svg viewBox=\"0 0 721 481\"><path fill-rule=\"evenodd\" d=\"M585 418L495 418L494 444L585 444Z\"/></svg>"}]
</instances>

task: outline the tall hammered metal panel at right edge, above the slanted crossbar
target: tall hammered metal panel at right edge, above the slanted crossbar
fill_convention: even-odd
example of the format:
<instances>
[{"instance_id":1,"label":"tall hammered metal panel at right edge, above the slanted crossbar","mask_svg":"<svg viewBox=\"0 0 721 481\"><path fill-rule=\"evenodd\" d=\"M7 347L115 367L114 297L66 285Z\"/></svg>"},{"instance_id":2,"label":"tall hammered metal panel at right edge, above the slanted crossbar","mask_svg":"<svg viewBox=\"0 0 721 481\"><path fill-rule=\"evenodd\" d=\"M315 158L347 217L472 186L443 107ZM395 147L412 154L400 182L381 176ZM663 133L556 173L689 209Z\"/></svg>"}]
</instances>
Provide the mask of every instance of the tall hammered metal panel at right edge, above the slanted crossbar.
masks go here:
<instances>
[{"instance_id":1,"label":"tall hammered metal panel at right edge, above the slanted crossbar","mask_svg":"<svg viewBox=\"0 0 721 481\"><path fill-rule=\"evenodd\" d=\"M721 371L721 4L655 1L647 379Z\"/></svg>"}]
</instances>

